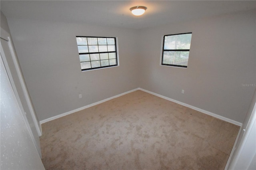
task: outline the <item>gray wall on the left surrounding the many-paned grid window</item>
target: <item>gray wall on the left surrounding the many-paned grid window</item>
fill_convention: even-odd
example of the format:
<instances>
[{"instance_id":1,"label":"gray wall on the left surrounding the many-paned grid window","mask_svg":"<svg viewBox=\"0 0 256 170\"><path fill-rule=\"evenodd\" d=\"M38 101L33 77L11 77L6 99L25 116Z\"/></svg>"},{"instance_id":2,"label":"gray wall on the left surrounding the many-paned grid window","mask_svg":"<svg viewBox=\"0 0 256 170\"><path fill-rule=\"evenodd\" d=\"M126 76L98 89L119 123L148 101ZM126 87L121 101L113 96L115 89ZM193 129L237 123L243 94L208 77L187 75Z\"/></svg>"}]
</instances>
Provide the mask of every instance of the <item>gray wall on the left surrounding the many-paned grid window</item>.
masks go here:
<instances>
[{"instance_id":1,"label":"gray wall on the left surrounding the many-paned grid window","mask_svg":"<svg viewBox=\"0 0 256 170\"><path fill-rule=\"evenodd\" d=\"M7 20L39 121L138 87L136 30ZM120 66L82 72L76 36L117 37Z\"/></svg>"}]
</instances>

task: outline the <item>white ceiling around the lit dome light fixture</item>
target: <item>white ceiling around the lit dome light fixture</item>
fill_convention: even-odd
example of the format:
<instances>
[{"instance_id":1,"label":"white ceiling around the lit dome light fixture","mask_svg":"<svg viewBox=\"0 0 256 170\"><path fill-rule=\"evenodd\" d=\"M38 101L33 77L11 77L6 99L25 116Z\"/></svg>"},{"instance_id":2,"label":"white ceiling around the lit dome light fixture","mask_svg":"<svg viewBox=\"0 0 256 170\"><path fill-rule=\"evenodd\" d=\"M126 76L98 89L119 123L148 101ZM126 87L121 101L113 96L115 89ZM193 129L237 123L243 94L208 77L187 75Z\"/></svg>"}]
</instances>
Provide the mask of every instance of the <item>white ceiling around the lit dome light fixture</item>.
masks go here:
<instances>
[{"instance_id":1,"label":"white ceiling around the lit dome light fixture","mask_svg":"<svg viewBox=\"0 0 256 170\"><path fill-rule=\"evenodd\" d=\"M148 28L232 12L252 10L256 1L0 1L7 18L82 22L124 28ZM132 6L146 6L140 17L130 12Z\"/></svg>"}]
</instances>

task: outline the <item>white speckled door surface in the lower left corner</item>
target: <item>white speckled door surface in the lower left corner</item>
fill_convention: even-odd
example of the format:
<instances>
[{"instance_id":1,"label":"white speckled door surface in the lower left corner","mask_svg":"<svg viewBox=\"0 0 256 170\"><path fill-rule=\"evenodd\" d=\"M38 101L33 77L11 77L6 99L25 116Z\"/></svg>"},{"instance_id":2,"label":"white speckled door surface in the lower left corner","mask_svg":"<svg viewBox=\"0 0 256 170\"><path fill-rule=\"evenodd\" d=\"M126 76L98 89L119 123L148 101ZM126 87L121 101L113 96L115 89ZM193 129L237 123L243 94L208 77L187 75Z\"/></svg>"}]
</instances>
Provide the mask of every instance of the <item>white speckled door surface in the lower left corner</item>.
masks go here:
<instances>
[{"instance_id":1,"label":"white speckled door surface in the lower left corner","mask_svg":"<svg viewBox=\"0 0 256 170\"><path fill-rule=\"evenodd\" d=\"M44 166L34 146L2 59L1 75L1 165L0 169L43 170Z\"/></svg>"}]
</instances>

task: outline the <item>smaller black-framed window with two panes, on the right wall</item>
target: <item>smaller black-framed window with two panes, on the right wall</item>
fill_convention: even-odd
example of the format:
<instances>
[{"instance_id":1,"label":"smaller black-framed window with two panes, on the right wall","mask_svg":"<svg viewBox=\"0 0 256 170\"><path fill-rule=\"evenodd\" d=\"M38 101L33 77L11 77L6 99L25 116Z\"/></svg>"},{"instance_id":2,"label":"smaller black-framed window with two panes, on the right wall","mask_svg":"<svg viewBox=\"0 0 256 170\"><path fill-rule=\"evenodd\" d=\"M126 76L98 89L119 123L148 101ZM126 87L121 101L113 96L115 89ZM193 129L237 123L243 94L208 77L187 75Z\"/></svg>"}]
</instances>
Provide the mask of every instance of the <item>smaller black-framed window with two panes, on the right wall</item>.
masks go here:
<instances>
[{"instance_id":1,"label":"smaller black-framed window with two panes, on the right wall","mask_svg":"<svg viewBox=\"0 0 256 170\"><path fill-rule=\"evenodd\" d=\"M162 65L188 67L192 33L164 36Z\"/></svg>"}]
</instances>

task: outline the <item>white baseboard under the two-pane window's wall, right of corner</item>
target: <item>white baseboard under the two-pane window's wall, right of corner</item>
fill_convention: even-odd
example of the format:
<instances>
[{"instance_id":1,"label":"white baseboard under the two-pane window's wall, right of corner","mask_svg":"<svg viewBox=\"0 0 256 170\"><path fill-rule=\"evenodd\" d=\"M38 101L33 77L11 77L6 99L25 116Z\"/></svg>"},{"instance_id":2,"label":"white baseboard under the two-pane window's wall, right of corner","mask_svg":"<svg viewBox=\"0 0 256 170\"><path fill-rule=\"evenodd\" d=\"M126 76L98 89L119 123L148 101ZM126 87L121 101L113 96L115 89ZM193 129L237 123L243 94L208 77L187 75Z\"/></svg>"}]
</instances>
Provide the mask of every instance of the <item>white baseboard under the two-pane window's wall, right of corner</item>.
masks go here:
<instances>
[{"instance_id":1,"label":"white baseboard under the two-pane window's wall, right of corner","mask_svg":"<svg viewBox=\"0 0 256 170\"><path fill-rule=\"evenodd\" d=\"M228 119L228 118L226 118L226 117L217 115L217 114L215 114L215 113L211 113L211 112L209 112L209 111L205 111L205 110L203 110L203 109L200 109L200 108L197 108L197 107L188 105L188 104L186 104L186 103L182 103L182 102L180 102L180 101L177 101L177 100L171 99L171 98L169 98L169 97L165 97L165 96L159 95L159 94L157 94L157 93L153 93L153 92L151 92L151 91L148 91L148 90L145 90L145 89L142 89L142 88L138 88L138 89L141 90L141 91L145 91L145 92L147 92L147 93L150 93L150 94L152 94L152 95L161 97L161 98L166 99L166 100L168 100L168 101L172 101L172 102L178 103L178 104L180 104L180 105L182 105L182 106L186 106L186 107L189 107L189 108L194 109L194 110L196 110L196 111L205 113L206 115L210 115L210 116L212 116L212 117L216 117L216 118L218 118L218 119L221 119L221 120L223 120L223 121L232 123L232 124L234 124L234 125L238 125L238 126L240 126L240 127L242 126L242 123L237 122L237 121L234 121L234 120L232 120L232 119Z\"/></svg>"}]
</instances>

